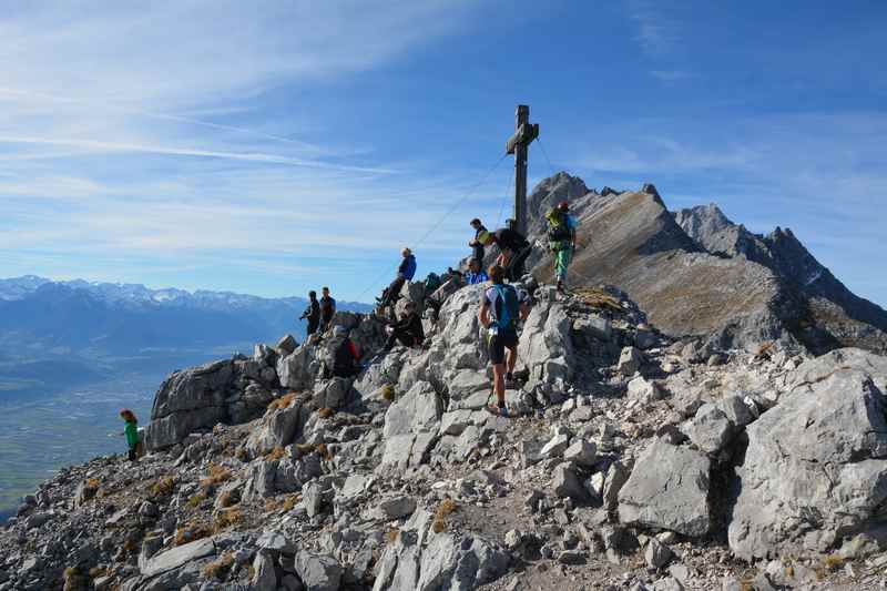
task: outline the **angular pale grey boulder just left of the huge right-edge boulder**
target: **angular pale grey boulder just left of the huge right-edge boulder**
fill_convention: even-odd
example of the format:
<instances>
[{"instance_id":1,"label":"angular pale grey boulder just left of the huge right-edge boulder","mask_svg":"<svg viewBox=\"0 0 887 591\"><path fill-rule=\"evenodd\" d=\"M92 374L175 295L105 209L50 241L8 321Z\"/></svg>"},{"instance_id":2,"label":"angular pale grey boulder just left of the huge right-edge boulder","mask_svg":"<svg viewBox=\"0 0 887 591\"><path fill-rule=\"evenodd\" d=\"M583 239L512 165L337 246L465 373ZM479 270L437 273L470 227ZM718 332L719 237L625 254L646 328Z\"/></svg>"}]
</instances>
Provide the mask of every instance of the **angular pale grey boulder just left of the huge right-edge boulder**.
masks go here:
<instances>
[{"instance_id":1,"label":"angular pale grey boulder just left of the huge right-edge boulder","mask_svg":"<svg viewBox=\"0 0 887 591\"><path fill-rule=\"evenodd\" d=\"M711 527L710 469L708 458L699 451L652 442L619 492L620 521L705 536Z\"/></svg>"}]
</instances>

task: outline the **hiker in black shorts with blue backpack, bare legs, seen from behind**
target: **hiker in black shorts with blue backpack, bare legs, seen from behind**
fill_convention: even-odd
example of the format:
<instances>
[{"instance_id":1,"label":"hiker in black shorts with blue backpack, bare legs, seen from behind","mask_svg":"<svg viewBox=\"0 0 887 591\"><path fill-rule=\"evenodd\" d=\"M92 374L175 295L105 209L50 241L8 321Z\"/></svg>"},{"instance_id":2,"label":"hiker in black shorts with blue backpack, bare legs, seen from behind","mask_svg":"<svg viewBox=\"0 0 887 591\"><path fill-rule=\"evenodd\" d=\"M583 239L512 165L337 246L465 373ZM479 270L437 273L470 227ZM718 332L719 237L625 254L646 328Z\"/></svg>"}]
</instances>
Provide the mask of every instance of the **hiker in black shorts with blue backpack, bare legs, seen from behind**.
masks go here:
<instances>
[{"instance_id":1,"label":"hiker in black shorts with blue backpack, bare legs, seen from behind","mask_svg":"<svg viewBox=\"0 0 887 591\"><path fill-rule=\"evenodd\" d=\"M513 379L518 360L518 319L526 320L530 314L527 294L506 285L504 275L499 265L489 268L492 286L483 293L478 313L480 324L489 332L487 347L492 364L492 390L496 393L496 406L489 405L488 410L502 416L508 415L506 380Z\"/></svg>"}]
</instances>

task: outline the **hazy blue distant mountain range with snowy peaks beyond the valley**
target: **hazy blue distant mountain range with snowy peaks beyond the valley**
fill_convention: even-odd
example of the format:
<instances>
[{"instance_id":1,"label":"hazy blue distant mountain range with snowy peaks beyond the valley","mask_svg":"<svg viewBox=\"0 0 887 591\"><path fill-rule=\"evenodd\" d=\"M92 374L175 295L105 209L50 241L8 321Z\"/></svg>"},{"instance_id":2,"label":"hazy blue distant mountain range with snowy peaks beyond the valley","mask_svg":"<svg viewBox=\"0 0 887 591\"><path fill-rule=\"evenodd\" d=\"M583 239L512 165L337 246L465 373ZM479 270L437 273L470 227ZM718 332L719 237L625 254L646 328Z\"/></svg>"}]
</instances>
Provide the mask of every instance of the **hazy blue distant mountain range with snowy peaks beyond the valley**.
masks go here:
<instances>
[{"instance_id":1,"label":"hazy blue distant mountain range with snowy peaks beyond the valley","mask_svg":"<svg viewBox=\"0 0 887 591\"><path fill-rule=\"evenodd\" d=\"M305 335L302 297L150 289L139 284L0 279L0 395L51 390L109 370L165 373L286 333ZM339 302L339 309L368 312ZM51 363L50 363L51 361Z\"/></svg>"}]
</instances>

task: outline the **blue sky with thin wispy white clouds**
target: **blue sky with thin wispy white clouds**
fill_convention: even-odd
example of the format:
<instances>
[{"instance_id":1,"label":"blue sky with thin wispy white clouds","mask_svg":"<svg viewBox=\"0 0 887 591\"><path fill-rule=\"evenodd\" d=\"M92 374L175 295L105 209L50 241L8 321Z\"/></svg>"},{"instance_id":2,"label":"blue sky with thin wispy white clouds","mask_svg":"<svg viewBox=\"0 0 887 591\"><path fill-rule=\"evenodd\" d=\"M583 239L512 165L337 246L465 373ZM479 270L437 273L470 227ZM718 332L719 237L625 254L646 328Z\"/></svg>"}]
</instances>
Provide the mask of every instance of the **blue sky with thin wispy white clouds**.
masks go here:
<instances>
[{"instance_id":1,"label":"blue sky with thin wispy white clouds","mask_svg":"<svg viewBox=\"0 0 887 591\"><path fill-rule=\"evenodd\" d=\"M476 185L527 103L557 170L791 227L885 305L885 26L880 1L4 4L0 276L366 300L402 245L437 271L500 217L510 160Z\"/></svg>"}]
</instances>

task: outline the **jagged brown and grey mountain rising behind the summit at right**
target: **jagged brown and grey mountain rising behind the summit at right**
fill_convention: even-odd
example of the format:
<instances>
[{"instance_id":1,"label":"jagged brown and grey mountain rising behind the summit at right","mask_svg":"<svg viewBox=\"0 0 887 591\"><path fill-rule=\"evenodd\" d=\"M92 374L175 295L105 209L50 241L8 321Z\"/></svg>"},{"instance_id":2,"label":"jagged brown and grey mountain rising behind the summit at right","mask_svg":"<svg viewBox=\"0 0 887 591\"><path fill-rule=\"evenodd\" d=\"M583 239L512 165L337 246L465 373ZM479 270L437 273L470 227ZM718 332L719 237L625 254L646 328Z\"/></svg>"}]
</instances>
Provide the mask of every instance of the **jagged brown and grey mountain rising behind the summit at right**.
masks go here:
<instances>
[{"instance_id":1,"label":"jagged brown and grey mountain rising behind the summit at right","mask_svg":"<svg viewBox=\"0 0 887 591\"><path fill-rule=\"evenodd\" d=\"M794 339L815 354L887 353L887 312L852 293L788 228L754 234L714 204L670 212L653 185L599 193L558 173L529 197L532 237L544 237L542 213L564 198L582 245L571 285L624 289L669 335L724 348ZM543 249L530 264L551 278Z\"/></svg>"}]
</instances>

